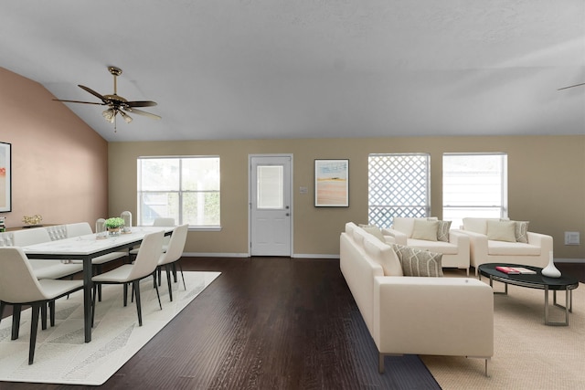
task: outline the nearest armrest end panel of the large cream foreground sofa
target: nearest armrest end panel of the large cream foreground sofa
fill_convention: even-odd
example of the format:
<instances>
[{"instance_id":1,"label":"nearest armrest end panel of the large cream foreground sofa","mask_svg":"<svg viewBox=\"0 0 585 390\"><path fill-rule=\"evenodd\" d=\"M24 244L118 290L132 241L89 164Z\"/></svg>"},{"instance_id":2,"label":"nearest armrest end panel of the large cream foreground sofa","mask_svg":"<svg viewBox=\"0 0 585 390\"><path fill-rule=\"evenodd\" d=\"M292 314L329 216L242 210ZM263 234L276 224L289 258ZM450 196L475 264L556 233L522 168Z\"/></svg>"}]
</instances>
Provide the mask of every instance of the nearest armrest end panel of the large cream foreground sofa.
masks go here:
<instances>
[{"instance_id":1,"label":"nearest armrest end panel of the large cream foreground sofa","mask_svg":"<svg viewBox=\"0 0 585 390\"><path fill-rule=\"evenodd\" d=\"M490 357L494 292L478 279L377 277L373 338L380 353Z\"/></svg>"}]
</instances>

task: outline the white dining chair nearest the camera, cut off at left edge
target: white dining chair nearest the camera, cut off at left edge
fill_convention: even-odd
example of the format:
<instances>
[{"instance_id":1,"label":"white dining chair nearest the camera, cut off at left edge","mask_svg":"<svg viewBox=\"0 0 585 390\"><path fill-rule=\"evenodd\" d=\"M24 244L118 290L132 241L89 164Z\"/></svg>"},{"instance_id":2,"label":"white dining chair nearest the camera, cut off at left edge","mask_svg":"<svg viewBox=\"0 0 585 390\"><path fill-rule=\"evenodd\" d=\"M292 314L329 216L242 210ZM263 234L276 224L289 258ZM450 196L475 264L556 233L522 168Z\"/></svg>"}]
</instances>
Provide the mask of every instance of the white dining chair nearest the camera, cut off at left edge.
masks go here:
<instances>
[{"instance_id":1,"label":"white dining chair nearest the camera, cut off at left edge","mask_svg":"<svg viewBox=\"0 0 585 390\"><path fill-rule=\"evenodd\" d=\"M0 272L0 317L6 304L13 305L12 337L18 338L20 328L20 311L23 305L30 305L32 316L30 322L30 342L28 346L28 364L35 359L39 311L51 308L51 325L55 325L55 300L83 288L83 280L37 279L34 270L22 248L0 248L2 258ZM46 325L42 327L46 329Z\"/></svg>"}]
</instances>

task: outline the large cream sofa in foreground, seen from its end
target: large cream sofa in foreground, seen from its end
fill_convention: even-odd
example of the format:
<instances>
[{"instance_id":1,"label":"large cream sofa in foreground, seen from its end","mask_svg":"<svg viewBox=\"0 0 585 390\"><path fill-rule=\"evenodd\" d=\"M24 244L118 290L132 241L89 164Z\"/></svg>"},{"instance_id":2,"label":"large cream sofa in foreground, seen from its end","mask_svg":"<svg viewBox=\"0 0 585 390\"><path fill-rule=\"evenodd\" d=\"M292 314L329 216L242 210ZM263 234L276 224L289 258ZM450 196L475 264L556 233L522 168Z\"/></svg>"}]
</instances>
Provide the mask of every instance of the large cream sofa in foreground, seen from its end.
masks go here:
<instances>
[{"instance_id":1,"label":"large cream sofa in foreground, seen from its end","mask_svg":"<svg viewBox=\"0 0 585 390\"><path fill-rule=\"evenodd\" d=\"M393 247L351 222L340 237L340 268L378 348L380 373L385 354L407 353L482 358L488 374L494 295L483 281L403 276Z\"/></svg>"}]
</instances>

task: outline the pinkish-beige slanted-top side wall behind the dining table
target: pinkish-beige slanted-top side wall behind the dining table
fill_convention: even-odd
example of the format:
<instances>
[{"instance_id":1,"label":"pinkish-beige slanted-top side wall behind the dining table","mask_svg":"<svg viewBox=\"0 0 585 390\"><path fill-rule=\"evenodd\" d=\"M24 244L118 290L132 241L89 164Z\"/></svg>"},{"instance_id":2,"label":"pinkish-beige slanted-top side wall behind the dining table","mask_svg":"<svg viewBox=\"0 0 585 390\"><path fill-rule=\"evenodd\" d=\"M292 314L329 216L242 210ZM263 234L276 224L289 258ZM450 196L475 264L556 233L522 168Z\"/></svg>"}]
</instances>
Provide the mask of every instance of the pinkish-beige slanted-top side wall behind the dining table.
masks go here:
<instances>
[{"instance_id":1,"label":"pinkish-beige slanted-top side wall behind the dining table","mask_svg":"<svg viewBox=\"0 0 585 390\"><path fill-rule=\"evenodd\" d=\"M108 145L35 81L0 68L0 142L12 143L7 227L95 221L107 212Z\"/></svg>"}]
</instances>

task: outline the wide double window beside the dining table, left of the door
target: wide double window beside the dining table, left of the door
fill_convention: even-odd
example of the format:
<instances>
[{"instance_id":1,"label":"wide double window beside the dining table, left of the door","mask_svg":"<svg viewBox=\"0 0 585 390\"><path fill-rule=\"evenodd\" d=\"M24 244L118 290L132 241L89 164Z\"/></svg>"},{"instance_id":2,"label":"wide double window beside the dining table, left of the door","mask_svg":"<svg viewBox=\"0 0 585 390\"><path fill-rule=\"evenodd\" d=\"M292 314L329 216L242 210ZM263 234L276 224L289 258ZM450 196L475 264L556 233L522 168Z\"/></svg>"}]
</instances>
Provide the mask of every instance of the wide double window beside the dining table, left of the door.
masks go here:
<instances>
[{"instance_id":1,"label":"wide double window beside the dining table, left of the door","mask_svg":"<svg viewBox=\"0 0 585 390\"><path fill-rule=\"evenodd\" d=\"M219 227L219 157L139 157L138 225L172 217L177 225Z\"/></svg>"}]
</instances>

